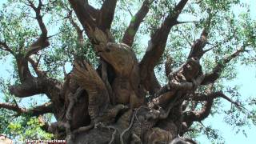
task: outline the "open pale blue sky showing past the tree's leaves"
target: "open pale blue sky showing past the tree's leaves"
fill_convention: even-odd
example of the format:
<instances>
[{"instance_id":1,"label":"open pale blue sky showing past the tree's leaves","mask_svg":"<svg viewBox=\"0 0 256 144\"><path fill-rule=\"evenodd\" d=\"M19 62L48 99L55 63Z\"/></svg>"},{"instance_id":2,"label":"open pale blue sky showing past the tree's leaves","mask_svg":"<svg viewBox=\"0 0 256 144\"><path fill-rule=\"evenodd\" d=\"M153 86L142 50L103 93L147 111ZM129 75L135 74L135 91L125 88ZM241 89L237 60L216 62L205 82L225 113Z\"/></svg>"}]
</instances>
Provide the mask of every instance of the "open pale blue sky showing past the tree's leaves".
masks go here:
<instances>
[{"instance_id":1,"label":"open pale blue sky showing past the tree's leaves","mask_svg":"<svg viewBox=\"0 0 256 144\"><path fill-rule=\"evenodd\" d=\"M0 6L2 3L6 2L6 0L0 0ZM256 20L256 11L254 8L256 7L256 0L243 0L250 4L250 12L251 16ZM8 60L6 61L8 62ZM0 77L6 78L9 75L9 71L12 67L6 63L0 61ZM226 82L226 85L229 86L240 86L239 92L242 94L243 98L249 98L250 96L256 97L255 86L256 86L256 66L239 66L238 67L238 78L231 82ZM2 94L0 94L0 102L2 102ZM42 103L42 102L40 102ZM225 106L230 106L229 102L224 102ZM234 129L231 126L227 126L225 122L223 122L222 114L215 114L214 118L207 118L206 121L202 122L204 125L211 125L214 128L220 131L222 137L225 139L226 144L236 144L236 143L255 143L256 136L256 126L252 126L250 128L246 128L247 138L242 134L235 134ZM201 136L198 138L198 141L207 144L210 143L205 136Z\"/></svg>"}]
</instances>

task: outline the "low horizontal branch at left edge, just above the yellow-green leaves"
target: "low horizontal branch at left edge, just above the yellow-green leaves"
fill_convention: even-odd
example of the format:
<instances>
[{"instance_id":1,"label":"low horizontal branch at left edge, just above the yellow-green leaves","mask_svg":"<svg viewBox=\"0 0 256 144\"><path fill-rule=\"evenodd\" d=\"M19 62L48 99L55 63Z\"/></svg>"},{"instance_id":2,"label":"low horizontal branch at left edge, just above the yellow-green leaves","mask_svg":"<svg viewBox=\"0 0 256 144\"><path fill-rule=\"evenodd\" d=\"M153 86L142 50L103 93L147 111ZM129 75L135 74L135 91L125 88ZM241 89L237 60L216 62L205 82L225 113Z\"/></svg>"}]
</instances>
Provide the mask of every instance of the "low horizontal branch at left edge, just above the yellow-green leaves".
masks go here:
<instances>
[{"instance_id":1,"label":"low horizontal branch at left edge, just above the yellow-green leaves","mask_svg":"<svg viewBox=\"0 0 256 144\"><path fill-rule=\"evenodd\" d=\"M13 110L13 111L17 112L18 115L29 114L30 116L38 116L38 115L42 115L42 114L53 113L51 102L46 102L41 106L35 106L31 109L19 107L17 104L0 102L0 108L4 108L7 110Z\"/></svg>"}]
</instances>

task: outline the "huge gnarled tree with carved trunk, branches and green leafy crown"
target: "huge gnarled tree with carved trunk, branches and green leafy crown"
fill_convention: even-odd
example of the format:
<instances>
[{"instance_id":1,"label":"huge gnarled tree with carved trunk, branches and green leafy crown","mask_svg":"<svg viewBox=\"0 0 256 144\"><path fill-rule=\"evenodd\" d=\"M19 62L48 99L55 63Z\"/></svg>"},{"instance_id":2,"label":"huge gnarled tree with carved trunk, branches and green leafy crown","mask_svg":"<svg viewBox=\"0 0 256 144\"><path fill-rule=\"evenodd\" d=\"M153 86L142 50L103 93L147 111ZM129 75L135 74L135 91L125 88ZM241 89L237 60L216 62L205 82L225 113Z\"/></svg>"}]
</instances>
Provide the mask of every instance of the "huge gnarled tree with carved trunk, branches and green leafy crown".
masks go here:
<instances>
[{"instance_id":1,"label":"huge gnarled tree with carved trunk, branches and green leafy crown","mask_svg":"<svg viewBox=\"0 0 256 144\"><path fill-rule=\"evenodd\" d=\"M1 11L0 48L14 59L14 78L2 83L9 99L0 107L35 117L68 143L194 143L178 135L193 136L219 98L232 103L227 113L254 122L236 88L223 85L236 77L235 66L255 63L256 23L234 6L248 10L238 0L11 0ZM49 102L18 106L16 98L37 94ZM42 117L49 113L57 122Z\"/></svg>"}]
</instances>

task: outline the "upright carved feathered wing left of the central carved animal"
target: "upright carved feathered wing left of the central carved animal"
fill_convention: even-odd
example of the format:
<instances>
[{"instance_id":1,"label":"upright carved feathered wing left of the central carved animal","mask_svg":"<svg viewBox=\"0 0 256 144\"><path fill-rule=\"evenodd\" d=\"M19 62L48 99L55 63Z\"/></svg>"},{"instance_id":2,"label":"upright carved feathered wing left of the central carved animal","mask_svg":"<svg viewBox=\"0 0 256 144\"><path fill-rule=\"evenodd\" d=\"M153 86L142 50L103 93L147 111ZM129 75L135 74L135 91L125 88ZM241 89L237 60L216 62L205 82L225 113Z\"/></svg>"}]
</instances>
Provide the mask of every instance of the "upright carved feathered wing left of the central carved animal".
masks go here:
<instances>
[{"instance_id":1,"label":"upright carved feathered wing left of the central carved animal","mask_svg":"<svg viewBox=\"0 0 256 144\"><path fill-rule=\"evenodd\" d=\"M71 76L88 93L88 111L93 121L109 106L110 99L106 86L98 73L86 61L74 62Z\"/></svg>"}]
</instances>

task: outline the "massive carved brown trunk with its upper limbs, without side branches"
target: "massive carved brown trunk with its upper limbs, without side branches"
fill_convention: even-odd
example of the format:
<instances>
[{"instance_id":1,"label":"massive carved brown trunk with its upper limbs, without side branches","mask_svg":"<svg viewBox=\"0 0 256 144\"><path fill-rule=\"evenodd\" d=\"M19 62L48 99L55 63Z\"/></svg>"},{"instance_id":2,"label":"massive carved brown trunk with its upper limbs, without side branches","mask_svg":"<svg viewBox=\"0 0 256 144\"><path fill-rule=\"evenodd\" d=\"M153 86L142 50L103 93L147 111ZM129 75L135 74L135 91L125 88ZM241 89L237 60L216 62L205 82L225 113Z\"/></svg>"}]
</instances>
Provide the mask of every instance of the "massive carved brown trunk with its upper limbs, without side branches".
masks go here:
<instances>
[{"instance_id":1,"label":"massive carved brown trunk with its upper limbs, without side branches","mask_svg":"<svg viewBox=\"0 0 256 144\"><path fill-rule=\"evenodd\" d=\"M182 10L186 2L181 1L175 10ZM130 48L134 35L126 33L123 38L125 43L121 44L111 39L110 24L114 17L115 0L105 1L101 10L96 10L98 14L95 16L86 2L70 1L70 4L93 43L95 52L102 58L99 68L101 70L98 72L85 60L77 59L70 74L70 80L73 79L73 82L86 91L80 96L71 94L72 98L69 102L65 102L68 107L66 118L60 121L70 125L64 125L66 129L70 129L66 130L70 131L71 138L66 134L70 142L97 144L171 142L178 136L182 126L180 99L184 100L187 91L194 89L192 79L196 80L201 70L199 63L192 59L186 64L195 71L190 75L190 79L182 73L183 68L178 71L177 75L181 78L175 80L172 78L170 82L188 82L188 86L183 86L186 88L182 87L181 90L175 88L177 83L169 86L166 91L160 90L154 76L154 66L163 53L170 28L177 24L178 14L166 18L162 27L152 37L148 54L146 53L142 62L138 62L134 51ZM138 26L146 15L140 13L147 13L149 5L150 1L144 2L141 11L138 11ZM128 29L138 30L138 26L132 25ZM112 78L110 73L114 73ZM201 77L199 78L202 80ZM146 91L155 98L147 101ZM86 100L84 108L77 104L83 97ZM75 100L72 106L71 99ZM76 115L78 117L75 117ZM82 125L78 126L81 118L84 118L82 122L87 122L87 125L81 123ZM168 126L162 126L165 122Z\"/></svg>"}]
</instances>

